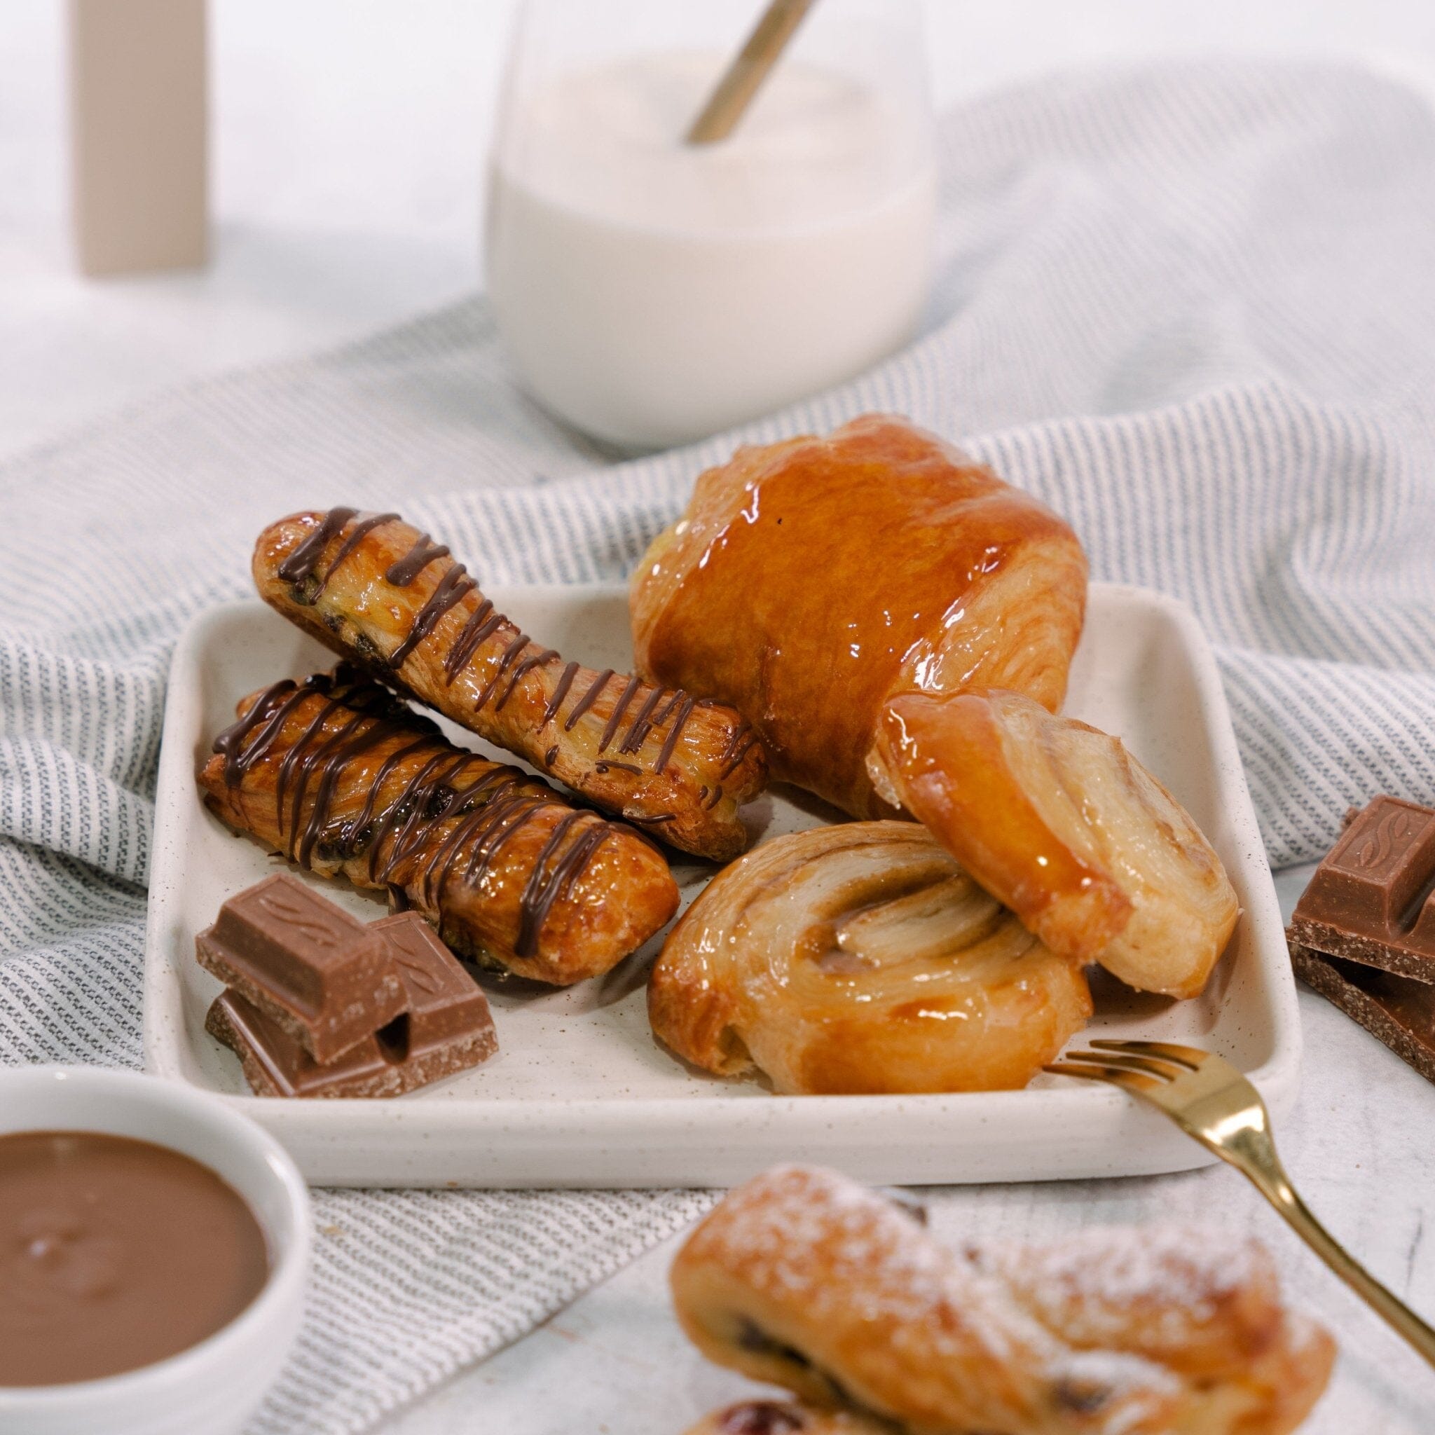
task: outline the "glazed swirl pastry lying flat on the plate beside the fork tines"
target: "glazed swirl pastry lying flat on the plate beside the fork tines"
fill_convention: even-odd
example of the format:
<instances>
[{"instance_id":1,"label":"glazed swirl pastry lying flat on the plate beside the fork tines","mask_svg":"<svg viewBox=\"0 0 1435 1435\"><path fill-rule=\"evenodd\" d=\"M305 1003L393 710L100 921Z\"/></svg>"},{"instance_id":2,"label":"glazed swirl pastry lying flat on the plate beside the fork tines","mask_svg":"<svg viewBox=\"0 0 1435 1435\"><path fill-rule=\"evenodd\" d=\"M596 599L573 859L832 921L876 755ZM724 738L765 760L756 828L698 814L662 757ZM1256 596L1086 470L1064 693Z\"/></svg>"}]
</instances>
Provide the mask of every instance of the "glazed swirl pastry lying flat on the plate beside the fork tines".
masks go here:
<instances>
[{"instance_id":1,"label":"glazed swirl pastry lying flat on the plate beside the fork tines","mask_svg":"<svg viewBox=\"0 0 1435 1435\"><path fill-rule=\"evenodd\" d=\"M1025 1086L1091 1016L1048 951L914 822L844 822L765 842L669 934L654 1033L779 1092Z\"/></svg>"}]
</instances>

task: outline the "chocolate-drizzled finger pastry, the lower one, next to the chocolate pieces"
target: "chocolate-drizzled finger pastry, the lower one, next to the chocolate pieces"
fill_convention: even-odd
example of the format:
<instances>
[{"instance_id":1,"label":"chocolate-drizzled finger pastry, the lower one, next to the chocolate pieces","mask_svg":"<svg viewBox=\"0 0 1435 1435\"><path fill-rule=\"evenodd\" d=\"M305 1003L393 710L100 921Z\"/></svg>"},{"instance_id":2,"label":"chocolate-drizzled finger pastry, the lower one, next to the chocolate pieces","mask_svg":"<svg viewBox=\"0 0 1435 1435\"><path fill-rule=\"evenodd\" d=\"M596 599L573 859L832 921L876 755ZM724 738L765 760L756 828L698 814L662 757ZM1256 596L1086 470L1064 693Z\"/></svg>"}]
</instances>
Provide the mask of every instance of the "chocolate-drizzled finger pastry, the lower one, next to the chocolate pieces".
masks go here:
<instances>
[{"instance_id":1,"label":"chocolate-drizzled finger pastry, the lower one, next to the chocolate pieces","mask_svg":"<svg viewBox=\"0 0 1435 1435\"><path fill-rule=\"evenodd\" d=\"M565 986L677 910L667 862L633 828L455 748L343 664L238 710L199 772L211 809L310 871L387 891L461 956Z\"/></svg>"}]
</instances>

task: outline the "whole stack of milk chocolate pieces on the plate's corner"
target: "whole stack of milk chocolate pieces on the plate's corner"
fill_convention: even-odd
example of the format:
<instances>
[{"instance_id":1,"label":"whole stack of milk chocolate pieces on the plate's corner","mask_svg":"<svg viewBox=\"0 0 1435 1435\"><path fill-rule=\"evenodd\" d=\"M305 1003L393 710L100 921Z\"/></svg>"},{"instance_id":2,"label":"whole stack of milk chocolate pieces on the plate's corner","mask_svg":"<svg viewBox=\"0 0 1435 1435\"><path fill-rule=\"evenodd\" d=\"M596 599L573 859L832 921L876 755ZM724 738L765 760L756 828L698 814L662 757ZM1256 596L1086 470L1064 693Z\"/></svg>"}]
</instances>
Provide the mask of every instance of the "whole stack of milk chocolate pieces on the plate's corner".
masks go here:
<instances>
[{"instance_id":1,"label":"whole stack of milk chocolate pieces on the plate's corner","mask_svg":"<svg viewBox=\"0 0 1435 1435\"><path fill-rule=\"evenodd\" d=\"M402 1096L498 1049L488 1000L416 913L362 923L288 872L195 938L205 1026L260 1096Z\"/></svg>"}]
</instances>

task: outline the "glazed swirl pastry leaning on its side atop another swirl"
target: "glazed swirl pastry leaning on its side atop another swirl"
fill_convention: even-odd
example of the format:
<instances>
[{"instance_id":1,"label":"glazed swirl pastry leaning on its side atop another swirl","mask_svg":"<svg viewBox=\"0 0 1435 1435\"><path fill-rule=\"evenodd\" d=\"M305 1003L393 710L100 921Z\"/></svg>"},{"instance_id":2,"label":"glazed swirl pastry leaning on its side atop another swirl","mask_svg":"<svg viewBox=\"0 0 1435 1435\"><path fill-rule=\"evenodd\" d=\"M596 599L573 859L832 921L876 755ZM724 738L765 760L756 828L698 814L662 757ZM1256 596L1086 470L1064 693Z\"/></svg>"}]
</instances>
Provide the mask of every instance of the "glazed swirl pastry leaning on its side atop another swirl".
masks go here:
<instances>
[{"instance_id":1,"label":"glazed swirl pastry leaning on its side atop another swirl","mask_svg":"<svg viewBox=\"0 0 1435 1435\"><path fill-rule=\"evenodd\" d=\"M1211 844L1119 738L1020 693L905 693L872 772L1053 951L1195 996L1240 916Z\"/></svg>"}]
</instances>

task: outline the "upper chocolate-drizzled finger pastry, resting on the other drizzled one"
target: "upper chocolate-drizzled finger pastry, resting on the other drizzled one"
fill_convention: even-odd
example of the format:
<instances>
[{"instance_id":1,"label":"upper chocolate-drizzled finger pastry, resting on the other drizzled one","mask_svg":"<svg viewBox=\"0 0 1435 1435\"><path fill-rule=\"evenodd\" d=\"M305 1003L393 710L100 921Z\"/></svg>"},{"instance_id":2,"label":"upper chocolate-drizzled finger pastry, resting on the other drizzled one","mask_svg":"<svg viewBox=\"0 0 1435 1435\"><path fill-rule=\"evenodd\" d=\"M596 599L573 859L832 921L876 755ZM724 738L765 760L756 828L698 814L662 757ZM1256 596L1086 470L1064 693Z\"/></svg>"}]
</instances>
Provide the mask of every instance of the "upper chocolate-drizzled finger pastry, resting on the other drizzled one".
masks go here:
<instances>
[{"instance_id":1,"label":"upper chocolate-drizzled finger pastry, resting on the other drizzled one","mask_svg":"<svg viewBox=\"0 0 1435 1435\"><path fill-rule=\"evenodd\" d=\"M673 687L564 663L395 514L294 514L254 548L260 597L370 676L686 852L746 845L766 784L752 729Z\"/></svg>"}]
</instances>

